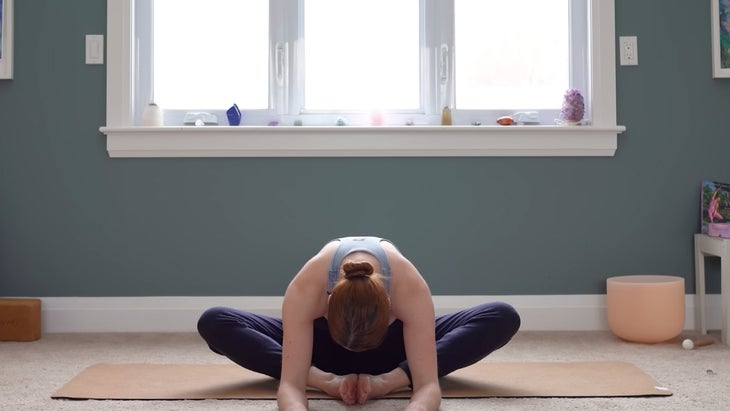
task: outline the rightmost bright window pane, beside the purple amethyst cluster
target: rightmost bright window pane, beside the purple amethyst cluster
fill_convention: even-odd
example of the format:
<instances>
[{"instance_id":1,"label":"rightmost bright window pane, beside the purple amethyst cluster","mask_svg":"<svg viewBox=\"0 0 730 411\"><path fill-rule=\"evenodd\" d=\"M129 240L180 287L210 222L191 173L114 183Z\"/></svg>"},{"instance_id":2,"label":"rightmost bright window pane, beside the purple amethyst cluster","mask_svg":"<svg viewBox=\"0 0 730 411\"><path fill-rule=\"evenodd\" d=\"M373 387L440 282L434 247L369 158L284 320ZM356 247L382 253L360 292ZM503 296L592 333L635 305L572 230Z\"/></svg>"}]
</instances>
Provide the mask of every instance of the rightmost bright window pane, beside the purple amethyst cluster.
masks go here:
<instances>
[{"instance_id":1,"label":"rightmost bright window pane, beside the purple amethyst cluster","mask_svg":"<svg viewBox=\"0 0 730 411\"><path fill-rule=\"evenodd\" d=\"M456 107L560 107L570 81L568 3L455 0Z\"/></svg>"}]
</instances>

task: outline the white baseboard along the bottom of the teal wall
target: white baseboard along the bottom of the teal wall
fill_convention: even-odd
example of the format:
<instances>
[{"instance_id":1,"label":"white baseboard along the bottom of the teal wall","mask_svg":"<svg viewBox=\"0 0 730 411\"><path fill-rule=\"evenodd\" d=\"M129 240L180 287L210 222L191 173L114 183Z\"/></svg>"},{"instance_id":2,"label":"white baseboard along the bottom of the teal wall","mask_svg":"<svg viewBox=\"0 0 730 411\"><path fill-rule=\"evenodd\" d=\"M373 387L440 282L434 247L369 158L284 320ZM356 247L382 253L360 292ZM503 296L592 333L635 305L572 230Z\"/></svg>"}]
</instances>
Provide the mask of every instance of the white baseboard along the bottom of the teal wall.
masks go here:
<instances>
[{"instance_id":1,"label":"white baseboard along the bottom of the teal wall","mask_svg":"<svg viewBox=\"0 0 730 411\"><path fill-rule=\"evenodd\" d=\"M279 316L283 297L46 297L42 300L44 333L194 332L200 314L223 305ZM606 296L517 295L434 296L437 314L487 301L512 304L523 331L608 330ZM685 329L695 328L695 298L686 296ZM721 299L707 296L709 329L721 324Z\"/></svg>"}]
</instances>

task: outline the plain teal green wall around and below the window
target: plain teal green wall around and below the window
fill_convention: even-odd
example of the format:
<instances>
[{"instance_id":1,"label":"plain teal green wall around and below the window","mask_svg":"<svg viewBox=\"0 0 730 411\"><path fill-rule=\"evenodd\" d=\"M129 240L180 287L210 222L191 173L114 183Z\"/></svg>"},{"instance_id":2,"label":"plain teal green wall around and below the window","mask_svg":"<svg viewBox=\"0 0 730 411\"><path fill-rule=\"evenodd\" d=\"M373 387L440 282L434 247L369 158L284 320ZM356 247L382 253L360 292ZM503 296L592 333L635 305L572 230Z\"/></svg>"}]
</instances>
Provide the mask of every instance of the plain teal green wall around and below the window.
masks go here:
<instances>
[{"instance_id":1,"label":"plain teal green wall around and below the window","mask_svg":"<svg viewBox=\"0 0 730 411\"><path fill-rule=\"evenodd\" d=\"M110 159L105 66L84 64L106 2L15 8L0 296L281 295L350 234L394 240L434 294L595 294L623 274L694 292L700 180L730 182L707 1L616 0L640 65L617 67L627 131L610 158Z\"/></svg>"}]
</instances>

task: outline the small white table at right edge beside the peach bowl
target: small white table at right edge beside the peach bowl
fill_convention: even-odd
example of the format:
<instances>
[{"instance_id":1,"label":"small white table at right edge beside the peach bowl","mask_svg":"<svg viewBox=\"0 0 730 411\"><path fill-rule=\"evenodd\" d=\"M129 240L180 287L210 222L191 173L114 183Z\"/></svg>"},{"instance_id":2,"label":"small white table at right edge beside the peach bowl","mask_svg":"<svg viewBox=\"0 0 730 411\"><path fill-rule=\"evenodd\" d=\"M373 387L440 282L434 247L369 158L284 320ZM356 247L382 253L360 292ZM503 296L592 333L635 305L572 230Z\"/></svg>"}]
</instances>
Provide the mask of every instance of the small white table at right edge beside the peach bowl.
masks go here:
<instances>
[{"instance_id":1,"label":"small white table at right edge beside the peach bowl","mask_svg":"<svg viewBox=\"0 0 730 411\"><path fill-rule=\"evenodd\" d=\"M712 237L707 234L695 234L695 293L698 329L707 334L707 317L705 315L705 257L720 257L720 294L722 300L722 333L723 344L730 342L730 239Z\"/></svg>"}]
</instances>

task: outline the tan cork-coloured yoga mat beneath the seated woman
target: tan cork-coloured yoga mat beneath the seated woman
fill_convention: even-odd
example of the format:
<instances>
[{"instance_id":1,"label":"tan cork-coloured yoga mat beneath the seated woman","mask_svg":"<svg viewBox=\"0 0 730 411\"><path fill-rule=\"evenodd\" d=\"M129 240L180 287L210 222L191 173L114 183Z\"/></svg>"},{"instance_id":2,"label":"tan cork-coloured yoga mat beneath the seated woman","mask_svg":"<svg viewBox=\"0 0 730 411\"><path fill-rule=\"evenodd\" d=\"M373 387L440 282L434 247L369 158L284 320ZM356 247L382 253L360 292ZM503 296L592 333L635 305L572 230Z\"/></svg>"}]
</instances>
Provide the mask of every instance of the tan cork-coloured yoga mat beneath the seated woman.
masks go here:
<instances>
[{"instance_id":1,"label":"tan cork-coloured yoga mat beneath the seated woman","mask_svg":"<svg viewBox=\"0 0 730 411\"><path fill-rule=\"evenodd\" d=\"M52 398L274 399L277 381L235 364L96 364ZM441 379L444 398L672 395L627 362L480 362ZM330 398L309 391L309 398ZM389 395L408 398L410 391Z\"/></svg>"}]
</instances>

